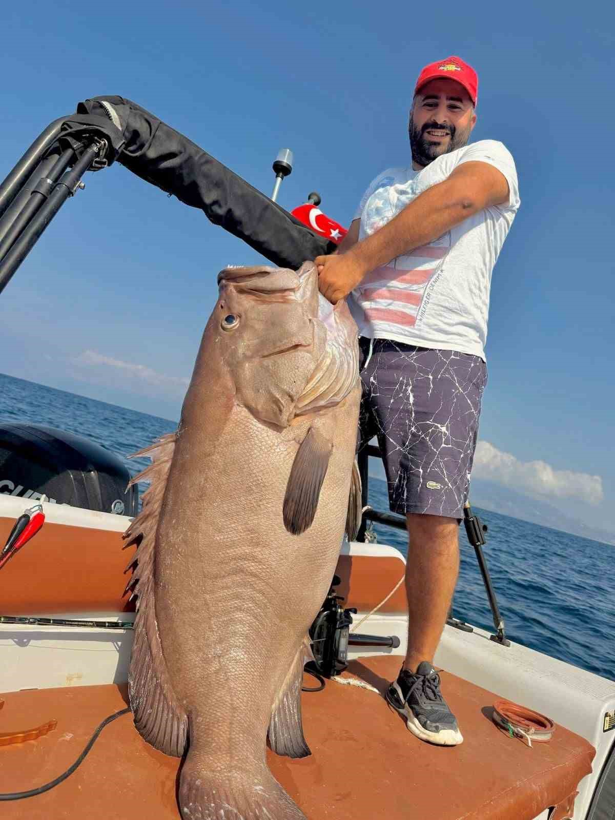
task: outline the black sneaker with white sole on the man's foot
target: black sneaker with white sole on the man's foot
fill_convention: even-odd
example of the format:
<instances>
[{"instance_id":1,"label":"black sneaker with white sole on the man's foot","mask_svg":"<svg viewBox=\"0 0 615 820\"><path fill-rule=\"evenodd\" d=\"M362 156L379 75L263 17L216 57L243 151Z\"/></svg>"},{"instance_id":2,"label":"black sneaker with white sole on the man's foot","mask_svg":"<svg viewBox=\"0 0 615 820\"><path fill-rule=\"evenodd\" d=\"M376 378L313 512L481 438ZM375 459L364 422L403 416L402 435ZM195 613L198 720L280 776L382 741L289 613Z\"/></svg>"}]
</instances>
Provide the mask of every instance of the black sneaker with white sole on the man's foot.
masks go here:
<instances>
[{"instance_id":1,"label":"black sneaker with white sole on the man's foot","mask_svg":"<svg viewBox=\"0 0 615 820\"><path fill-rule=\"evenodd\" d=\"M413 675L402 669L386 690L389 706L406 718L413 735L440 746L458 746L462 733L440 691L440 675L428 661Z\"/></svg>"}]
</instances>

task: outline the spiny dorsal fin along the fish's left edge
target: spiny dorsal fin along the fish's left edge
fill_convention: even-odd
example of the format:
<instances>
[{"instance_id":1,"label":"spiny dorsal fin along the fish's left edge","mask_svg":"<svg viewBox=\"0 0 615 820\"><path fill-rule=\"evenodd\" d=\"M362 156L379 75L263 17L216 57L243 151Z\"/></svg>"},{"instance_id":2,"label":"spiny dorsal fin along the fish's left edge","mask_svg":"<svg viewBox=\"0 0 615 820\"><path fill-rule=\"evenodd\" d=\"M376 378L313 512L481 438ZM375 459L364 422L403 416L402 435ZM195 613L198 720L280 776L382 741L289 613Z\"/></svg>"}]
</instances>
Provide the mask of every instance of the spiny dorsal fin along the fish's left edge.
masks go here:
<instances>
[{"instance_id":1,"label":"spiny dorsal fin along the fish's left edge","mask_svg":"<svg viewBox=\"0 0 615 820\"><path fill-rule=\"evenodd\" d=\"M150 447L134 453L148 455L152 464L130 481L148 479L143 508L124 533L126 546L137 544L137 552L126 569L134 572L125 592L137 595L134 640L130 657L128 690L134 725L148 743L165 754L181 757L188 739L188 718L172 689L156 622L154 608L154 544L162 497L175 451L175 433L162 436Z\"/></svg>"}]
</instances>

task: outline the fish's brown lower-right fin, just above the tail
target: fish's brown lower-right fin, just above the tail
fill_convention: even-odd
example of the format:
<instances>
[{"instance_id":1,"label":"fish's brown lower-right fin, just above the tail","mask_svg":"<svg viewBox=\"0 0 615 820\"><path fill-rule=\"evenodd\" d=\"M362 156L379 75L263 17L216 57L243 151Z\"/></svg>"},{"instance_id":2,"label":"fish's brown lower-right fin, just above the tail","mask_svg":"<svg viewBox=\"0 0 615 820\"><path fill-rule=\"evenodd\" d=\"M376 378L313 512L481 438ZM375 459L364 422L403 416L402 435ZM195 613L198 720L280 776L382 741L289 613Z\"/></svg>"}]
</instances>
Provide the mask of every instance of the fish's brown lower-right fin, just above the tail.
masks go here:
<instances>
[{"instance_id":1,"label":"fish's brown lower-right fin, just above the tail","mask_svg":"<svg viewBox=\"0 0 615 820\"><path fill-rule=\"evenodd\" d=\"M312 754L303 736L301 722L303 667L307 661L312 659L312 649L310 649L306 636L271 710L269 723L271 749L276 754L286 754L289 758L306 758Z\"/></svg>"}]
</instances>

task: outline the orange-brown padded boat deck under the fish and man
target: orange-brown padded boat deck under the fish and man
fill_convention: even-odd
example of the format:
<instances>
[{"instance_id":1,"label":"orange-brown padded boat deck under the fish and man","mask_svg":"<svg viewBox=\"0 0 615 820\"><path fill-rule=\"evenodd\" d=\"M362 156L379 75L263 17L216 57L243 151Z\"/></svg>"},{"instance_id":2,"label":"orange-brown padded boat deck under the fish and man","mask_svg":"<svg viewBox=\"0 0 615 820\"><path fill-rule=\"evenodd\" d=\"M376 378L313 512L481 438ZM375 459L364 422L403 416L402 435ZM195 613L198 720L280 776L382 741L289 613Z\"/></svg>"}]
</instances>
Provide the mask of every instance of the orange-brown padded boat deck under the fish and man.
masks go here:
<instances>
[{"instance_id":1,"label":"orange-brown padded boat deck under the fish and man","mask_svg":"<svg viewBox=\"0 0 615 820\"><path fill-rule=\"evenodd\" d=\"M384 691L400 658L354 661L349 672ZM344 676L348 676L346 673ZM376 693L327 681L303 693L303 727L312 756L268 762L308 820L533 820L569 798L591 771L594 748L558 726L549 743L530 749L490 719L496 696L442 672L444 695L464 742L440 748L417 740ZM306 686L315 685L306 676ZM0 747L0 792L30 790L74 763L98 723L125 708L125 688L82 686L2 695L0 731L57 719L39 740ZM180 760L147 745L130 714L103 729L80 767L43 795L2 803L7 820L177 820Z\"/></svg>"}]
</instances>

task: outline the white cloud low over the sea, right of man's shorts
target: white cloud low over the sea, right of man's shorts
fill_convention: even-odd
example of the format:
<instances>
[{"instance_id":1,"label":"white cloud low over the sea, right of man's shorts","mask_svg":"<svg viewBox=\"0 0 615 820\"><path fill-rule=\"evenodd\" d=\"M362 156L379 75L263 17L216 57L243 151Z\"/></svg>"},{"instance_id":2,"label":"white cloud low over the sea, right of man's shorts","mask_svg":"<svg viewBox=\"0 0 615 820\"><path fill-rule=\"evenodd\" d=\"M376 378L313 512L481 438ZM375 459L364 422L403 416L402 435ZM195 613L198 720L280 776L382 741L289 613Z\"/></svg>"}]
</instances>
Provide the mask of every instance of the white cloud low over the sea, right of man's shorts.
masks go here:
<instances>
[{"instance_id":1,"label":"white cloud low over the sea, right of man's shorts","mask_svg":"<svg viewBox=\"0 0 615 820\"><path fill-rule=\"evenodd\" d=\"M488 441L479 441L472 467L472 478L495 481L521 493L565 499L574 498L596 506L603 498L602 479L586 472L554 470L543 461L521 462L503 453Z\"/></svg>"}]
</instances>

